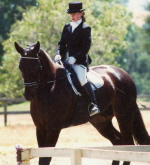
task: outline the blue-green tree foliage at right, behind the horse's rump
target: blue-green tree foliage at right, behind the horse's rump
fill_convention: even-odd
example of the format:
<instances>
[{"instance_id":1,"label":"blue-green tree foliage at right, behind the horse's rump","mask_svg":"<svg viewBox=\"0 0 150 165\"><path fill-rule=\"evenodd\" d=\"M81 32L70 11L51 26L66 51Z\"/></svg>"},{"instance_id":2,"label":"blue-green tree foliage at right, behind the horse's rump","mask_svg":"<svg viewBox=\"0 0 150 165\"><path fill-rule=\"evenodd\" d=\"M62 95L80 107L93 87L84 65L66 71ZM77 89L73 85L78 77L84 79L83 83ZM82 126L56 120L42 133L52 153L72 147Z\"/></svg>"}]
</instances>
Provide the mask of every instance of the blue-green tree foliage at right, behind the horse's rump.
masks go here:
<instances>
[{"instance_id":1,"label":"blue-green tree foliage at right, behind the horse's rump","mask_svg":"<svg viewBox=\"0 0 150 165\"><path fill-rule=\"evenodd\" d=\"M128 47L122 52L122 56L117 59L121 67L133 78L140 94L150 94L150 58L143 46L145 37L142 28L134 24L129 26L126 36Z\"/></svg>"}]
</instances>

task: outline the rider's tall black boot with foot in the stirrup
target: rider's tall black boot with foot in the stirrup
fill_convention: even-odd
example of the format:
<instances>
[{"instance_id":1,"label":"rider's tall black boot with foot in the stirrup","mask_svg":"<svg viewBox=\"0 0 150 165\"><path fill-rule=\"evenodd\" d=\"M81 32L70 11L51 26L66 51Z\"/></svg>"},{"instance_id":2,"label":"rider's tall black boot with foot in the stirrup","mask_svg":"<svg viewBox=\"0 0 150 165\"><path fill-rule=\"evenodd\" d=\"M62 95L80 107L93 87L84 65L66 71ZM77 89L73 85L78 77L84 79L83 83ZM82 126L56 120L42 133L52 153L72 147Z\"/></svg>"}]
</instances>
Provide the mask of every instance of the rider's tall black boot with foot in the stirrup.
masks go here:
<instances>
[{"instance_id":1,"label":"rider's tall black boot with foot in the stirrup","mask_svg":"<svg viewBox=\"0 0 150 165\"><path fill-rule=\"evenodd\" d=\"M90 113L90 116L93 116L95 114L98 114L100 113L100 110L97 106L97 102L96 102L96 98L95 98L95 94L94 94L94 91L90 85L89 82L87 82L86 84L83 85L83 88L87 94L87 96L89 97L91 103L89 105L89 113Z\"/></svg>"}]
</instances>

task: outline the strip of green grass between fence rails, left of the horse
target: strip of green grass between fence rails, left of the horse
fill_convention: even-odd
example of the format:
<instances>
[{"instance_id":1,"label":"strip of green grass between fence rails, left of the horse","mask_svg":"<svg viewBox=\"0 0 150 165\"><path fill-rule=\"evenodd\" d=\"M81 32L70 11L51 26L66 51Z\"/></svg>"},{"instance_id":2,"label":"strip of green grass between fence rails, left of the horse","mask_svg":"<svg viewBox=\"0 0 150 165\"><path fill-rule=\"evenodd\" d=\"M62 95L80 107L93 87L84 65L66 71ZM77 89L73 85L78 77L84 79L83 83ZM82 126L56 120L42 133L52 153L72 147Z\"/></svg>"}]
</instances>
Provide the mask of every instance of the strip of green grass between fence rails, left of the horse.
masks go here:
<instances>
[{"instance_id":1,"label":"strip of green grass between fence rails, left of the horse","mask_svg":"<svg viewBox=\"0 0 150 165\"><path fill-rule=\"evenodd\" d=\"M0 112L3 112L4 107L0 107ZM18 104L12 104L7 106L7 111L26 111L30 110L30 102L23 102Z\"/></svg>"}]
</instances>

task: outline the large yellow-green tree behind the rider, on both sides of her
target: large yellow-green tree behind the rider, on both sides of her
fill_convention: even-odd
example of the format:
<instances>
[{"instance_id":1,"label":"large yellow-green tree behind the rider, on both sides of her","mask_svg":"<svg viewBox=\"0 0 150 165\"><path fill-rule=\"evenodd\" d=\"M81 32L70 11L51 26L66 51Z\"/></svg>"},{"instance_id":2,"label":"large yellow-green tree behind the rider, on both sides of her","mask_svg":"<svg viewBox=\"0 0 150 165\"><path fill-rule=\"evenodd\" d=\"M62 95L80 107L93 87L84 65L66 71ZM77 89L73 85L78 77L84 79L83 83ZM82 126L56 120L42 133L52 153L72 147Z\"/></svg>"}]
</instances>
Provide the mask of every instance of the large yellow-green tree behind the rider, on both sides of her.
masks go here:
<instances>
[{"instance_id":1,"label":"large yellow-green tree behind the rider, on both sides of her","mask_svg":"<svg viewBox=\"0 0 150 165\"><path fill-rule=\"evenodd\" d=\"M25 47L39 40L53 58L61 31L69 16L65 14L68 0L38 0L38 7L23 13L23 19L11 28L9 38L3 42L5 56L0 69L0 93L3 96L22 96L23 85L18 70L19 55L14 41ZM93 65L116 64L120 50L126 46L125 36L130 16L119 4L99 0L83 0L87 23L92 27L93 45L90 55Z\"/></svg>"}]
</instances>

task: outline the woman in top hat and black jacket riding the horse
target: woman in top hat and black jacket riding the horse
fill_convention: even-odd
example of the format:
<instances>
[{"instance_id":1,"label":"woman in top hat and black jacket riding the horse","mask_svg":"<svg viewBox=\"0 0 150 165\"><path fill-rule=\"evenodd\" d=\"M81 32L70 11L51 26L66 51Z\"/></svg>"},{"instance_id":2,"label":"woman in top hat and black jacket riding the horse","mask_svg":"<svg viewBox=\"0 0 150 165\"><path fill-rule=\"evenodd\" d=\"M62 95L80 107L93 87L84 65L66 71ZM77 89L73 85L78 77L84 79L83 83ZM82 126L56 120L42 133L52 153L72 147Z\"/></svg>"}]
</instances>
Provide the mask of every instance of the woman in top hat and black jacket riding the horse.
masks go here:
<instances>
[{"instance_id":1,"label":"woman in top hat and black jacket riding the horse","mask_svg":"<svg viewBox=\"0 0 150 165\"><path fill-rule=\"evenodd\" d=\"M78 80L86 92L89 100L90 116L100 112L94 91L87 81L87 68L91 62L88 51L91 46L91 27L85 24L84 10L82 2L70 2L69 9L71 21L67 23L62 32L61 39L56 50L55 61L61 60L72 65Z\"/></svg>"}]
</instances>

